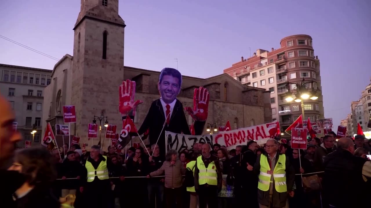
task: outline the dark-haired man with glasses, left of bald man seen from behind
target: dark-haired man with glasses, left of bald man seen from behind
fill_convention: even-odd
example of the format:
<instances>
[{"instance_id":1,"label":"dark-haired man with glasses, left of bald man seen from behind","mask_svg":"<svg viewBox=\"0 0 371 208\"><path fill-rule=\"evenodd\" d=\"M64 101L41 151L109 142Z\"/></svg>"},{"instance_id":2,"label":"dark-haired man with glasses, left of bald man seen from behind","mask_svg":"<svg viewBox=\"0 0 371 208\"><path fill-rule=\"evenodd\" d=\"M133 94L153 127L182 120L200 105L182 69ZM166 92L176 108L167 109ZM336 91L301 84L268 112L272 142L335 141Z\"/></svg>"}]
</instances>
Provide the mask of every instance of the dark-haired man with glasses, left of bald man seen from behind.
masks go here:
<instances>
[{"instance_id":1,"label":"dark-haired man with glasses, left of bald man seen from behind","mask_svg":"<svg viewBox=\"0 0 371 208\"><path fill-rule=\"evenodd\" d=\"M332 137L332 135L325 135L323 141L324 142L314 152L313 165L316 171L324 170L323 162L325 157L336 149L334 145L335 138Z\"/></svg>"}]
</instances>

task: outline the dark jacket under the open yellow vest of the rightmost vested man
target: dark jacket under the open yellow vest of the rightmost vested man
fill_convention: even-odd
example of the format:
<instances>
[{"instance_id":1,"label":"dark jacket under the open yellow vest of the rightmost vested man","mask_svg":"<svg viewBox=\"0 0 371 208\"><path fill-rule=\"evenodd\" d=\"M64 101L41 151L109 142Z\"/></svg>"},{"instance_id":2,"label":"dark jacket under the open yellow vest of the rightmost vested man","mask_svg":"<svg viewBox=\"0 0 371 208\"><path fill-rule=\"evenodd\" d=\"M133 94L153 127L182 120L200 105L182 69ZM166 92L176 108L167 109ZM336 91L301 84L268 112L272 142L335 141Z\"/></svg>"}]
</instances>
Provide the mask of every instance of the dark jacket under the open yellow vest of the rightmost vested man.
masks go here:
<instances>
[{"instance_id":1,"label":"dark jacket under the open yellow vest of the rightmost vested man","mask_svg":"<svg viewBox=\"0 0 371 208\"><path fill-rule=\"evenodd\" d=\"M269 160L269 157L268 157L267 153L264 153L264 155ZM276 153L276 162L274 164L274 167L276 166L276 164L278 162L278 155L281 155L281 154L279 152ZM257 158L255 166L254 166L254 171L257 175L260 174L260 156L261 155L259 155L259 157ZM285 167L286 167L286 170L285 170L286 171L286 187L287 187L287 191L291 192L292 187L294 185L294 181L295 181L295 170L290 163L290 159L287 156L285 156L285 157L286 157L286 163L285 163ZM259 204L269 206L269 190L268 191L262 191L262 190L258 189L257 195L258 195ZM286 199L287 199L287 193L286 192L283 192L283 193L277 192L276 188L275 188L275 185L273 183L273 197L272 197L273 208L285 207Z\"/></svg>"}]
</instances>

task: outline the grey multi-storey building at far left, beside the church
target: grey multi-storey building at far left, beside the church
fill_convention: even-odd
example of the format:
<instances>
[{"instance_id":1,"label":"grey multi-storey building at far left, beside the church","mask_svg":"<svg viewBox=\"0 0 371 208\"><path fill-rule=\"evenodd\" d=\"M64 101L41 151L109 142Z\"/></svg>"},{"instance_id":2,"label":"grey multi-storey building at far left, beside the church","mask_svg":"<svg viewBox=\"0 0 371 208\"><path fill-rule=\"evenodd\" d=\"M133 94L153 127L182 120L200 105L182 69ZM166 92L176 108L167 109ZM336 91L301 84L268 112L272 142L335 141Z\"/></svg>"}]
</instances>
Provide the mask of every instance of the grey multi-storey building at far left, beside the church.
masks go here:
<instances>
[{"instance_id":1,"label":"grey multi-storey building at far left, beside the church","mask_svg":"<svg viewBox=\"0 0 371 208\"><path fill-rule=\"evenodd\" d=\"M24 140L40 142L44 88L50 84L52 71L0 64L0 94L7 98L16 113L17 131ZM36 127L35 137L31 134ZM24 141L19 147L24 147Z\"/></svg>"}]
</instances>

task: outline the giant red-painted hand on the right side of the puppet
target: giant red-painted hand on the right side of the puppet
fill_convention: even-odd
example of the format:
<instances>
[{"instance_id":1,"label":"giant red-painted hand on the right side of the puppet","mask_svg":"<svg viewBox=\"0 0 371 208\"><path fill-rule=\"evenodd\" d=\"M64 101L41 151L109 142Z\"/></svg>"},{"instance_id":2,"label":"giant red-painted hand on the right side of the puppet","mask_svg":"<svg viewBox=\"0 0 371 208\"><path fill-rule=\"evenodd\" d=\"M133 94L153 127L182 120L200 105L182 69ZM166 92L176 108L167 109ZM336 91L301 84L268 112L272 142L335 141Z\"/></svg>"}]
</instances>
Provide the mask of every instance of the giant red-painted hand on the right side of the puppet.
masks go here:
<instances>
[{"instance_id":1,"label":"giant red-painted hand on the right side of the puppet","mask_svg":"<svg viewBox=\"0 0 371 208\"><path fill-rule=\"evenodd\" d=\"M206 121L209 99L209 91L206 88L196 88L193 94L193 109L191 107L186 107L185 110L188 111L194 120Z\"/></svg>"}]
</instances>

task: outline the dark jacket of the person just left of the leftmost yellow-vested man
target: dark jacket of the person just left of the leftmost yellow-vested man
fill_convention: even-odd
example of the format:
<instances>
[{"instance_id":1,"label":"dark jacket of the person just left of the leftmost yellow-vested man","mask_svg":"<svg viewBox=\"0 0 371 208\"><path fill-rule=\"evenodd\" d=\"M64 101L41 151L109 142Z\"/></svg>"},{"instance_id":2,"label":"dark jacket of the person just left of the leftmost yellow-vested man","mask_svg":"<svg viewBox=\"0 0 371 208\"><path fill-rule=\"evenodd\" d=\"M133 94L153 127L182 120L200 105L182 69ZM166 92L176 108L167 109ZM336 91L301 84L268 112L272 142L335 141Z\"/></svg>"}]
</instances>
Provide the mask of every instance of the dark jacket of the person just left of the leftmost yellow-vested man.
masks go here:
<instances>
[{"instance_id":1,"label":"dark jacket of the person just left of the leftmost yellow-vested man","mask_svg":"<svg viewBox=\"0 0 371 208\"><path fill-rule=\"evenodd\" d=\"M68 158L61 164L62 168L60 169L60 175L66 178L77 178L82 177L84 168L79 161L69 161ZM62 189L78 189L79 182L78 180L61 180Z\"/></svg>"}]
</instances>

